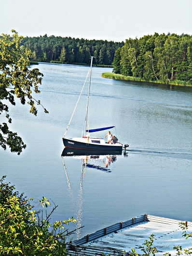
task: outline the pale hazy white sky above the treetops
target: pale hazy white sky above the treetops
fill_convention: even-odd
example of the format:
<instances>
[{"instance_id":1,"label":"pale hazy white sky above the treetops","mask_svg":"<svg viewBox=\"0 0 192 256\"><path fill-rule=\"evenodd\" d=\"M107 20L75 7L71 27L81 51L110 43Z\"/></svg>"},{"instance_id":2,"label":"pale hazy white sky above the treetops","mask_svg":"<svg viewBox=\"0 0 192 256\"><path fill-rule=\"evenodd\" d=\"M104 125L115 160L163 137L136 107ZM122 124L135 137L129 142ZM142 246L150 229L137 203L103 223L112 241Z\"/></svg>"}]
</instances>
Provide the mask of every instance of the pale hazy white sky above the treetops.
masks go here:
<instances>
[{"instance_id":1,"label":"pale hazy white sky above the treetops","mask_svg":"<svg viewBox=\"0 0 192 256\"><path fill-rule=\"evenodd\" d=\"M192 0L0 0L0 34L121 42L168 32L192 35Z\"/></svg>"}]
</instances>

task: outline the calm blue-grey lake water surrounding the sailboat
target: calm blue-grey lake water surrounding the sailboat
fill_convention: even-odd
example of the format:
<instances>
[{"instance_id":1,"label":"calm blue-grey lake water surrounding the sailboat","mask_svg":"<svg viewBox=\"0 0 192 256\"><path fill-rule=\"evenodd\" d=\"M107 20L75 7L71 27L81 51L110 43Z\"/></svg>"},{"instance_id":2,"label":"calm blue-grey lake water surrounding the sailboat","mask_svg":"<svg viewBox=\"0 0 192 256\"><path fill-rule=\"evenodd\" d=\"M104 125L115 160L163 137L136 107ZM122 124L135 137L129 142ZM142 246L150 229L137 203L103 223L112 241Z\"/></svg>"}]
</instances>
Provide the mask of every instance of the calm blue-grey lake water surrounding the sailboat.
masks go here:
<instances>
[{"instance_id":1,"label":"calm blue-grey lake water surrounding the sailboat","mask_svg":"<svg viewBox=\"0 0 192 256\"><path fill-rule=\"evenodd\" d=\"M52 221L74 216L73 239L141 214L192 221L192 88L105 79L110 68L93 67L90 128L115 126L129 150L122 155L65 156L62 136L89 67L40 63L41 94L49 114L37 117L28 106L10 109L11 128L27 144L17 156L0 149L0 173L35 201L42 196L58 205ZM84 129L82 95L66 137ZM103 137L107 131L99 132ZM107 158L108 159L108 158ZM53 203L52 203L53 206Z\"/></svg>"}]
</instances>

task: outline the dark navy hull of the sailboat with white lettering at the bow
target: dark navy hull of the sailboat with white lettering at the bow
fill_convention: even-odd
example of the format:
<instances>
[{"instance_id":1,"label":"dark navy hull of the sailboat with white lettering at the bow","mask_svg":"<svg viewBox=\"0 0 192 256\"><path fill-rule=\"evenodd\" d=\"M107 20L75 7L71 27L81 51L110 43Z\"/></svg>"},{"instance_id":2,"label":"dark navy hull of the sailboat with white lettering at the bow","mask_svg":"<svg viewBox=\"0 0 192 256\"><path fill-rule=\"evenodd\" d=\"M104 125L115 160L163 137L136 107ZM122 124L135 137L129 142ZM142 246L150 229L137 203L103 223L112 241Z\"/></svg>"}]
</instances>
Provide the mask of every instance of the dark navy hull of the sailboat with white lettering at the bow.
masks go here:
<instances>
[{"instance_id":1,"label":"dark navy hull of the sailboat with white lettering at the bow","mask_svg":"<svg viewBox=\"0 0 192 256\"><path fill-rule=\"evenodd\" d=\"M68 138L63 138L63 144L66 148L82 149L82 150L98 150L98 151L117 151L121 152L123 146L121 144L94 144L87 142L79 142Z\"/></svg>"}]
</instances>

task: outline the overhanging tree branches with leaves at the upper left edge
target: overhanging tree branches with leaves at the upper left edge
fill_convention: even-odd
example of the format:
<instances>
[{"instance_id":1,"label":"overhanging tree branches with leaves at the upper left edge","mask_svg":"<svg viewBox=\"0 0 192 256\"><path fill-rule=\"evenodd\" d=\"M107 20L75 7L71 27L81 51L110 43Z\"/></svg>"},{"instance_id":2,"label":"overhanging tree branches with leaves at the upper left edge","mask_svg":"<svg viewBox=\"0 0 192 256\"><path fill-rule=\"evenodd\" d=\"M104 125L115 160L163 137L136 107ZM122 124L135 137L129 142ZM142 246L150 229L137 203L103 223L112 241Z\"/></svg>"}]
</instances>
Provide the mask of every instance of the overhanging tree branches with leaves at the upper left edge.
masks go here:
<instances>
[{"instance_id":1,"label":"overhanging tree branches with leaves at the upper left edge","mask_svg":"<svg viewBox=\"0 0 192 256\"><path fill-rule=\"evenodd\" d=\"M23 105L27 100L29 112L37 115L35 102L37 105L41 105L41 102L32 97L32 90L40 93L39 84L41 85L43 76L38 69L28 69L31 51L21 45L24 38L16 31L12 32L13 36L2 34L0 37L0 114L5 115L8 123L12 123L12 119L8 114L9 107L5 103L9 101L15 105L15 98ZM45 108L44 112L48 113ZM4 150L9 146L11 152L17 152L18 155L26 148L22 139L16 132L10 131L5 122L0 123L0 146Z\"/></svg>"}]
</instances>

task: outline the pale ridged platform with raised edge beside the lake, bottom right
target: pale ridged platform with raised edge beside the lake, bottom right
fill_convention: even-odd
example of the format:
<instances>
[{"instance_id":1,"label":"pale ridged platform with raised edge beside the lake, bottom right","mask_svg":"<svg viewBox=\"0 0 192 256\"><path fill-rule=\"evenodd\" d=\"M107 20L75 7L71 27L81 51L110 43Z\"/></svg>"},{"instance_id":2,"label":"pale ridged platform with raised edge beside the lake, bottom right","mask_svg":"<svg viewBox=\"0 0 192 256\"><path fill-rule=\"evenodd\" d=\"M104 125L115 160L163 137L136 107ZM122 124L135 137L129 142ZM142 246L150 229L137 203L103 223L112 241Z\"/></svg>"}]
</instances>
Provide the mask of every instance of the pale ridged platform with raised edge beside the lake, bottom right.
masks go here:
<instances>
[{"instance_id":1,"label":"pale ridged platform with raised edge beside the lake, bottom right","mask_svg":"<svg viewBox=\"0 0 192 256\"><path fill-rule=\"evenodd\" d=\"M183 230L179 227L181 222L185 223L189 232L192 232L192 222L141 215L69 243L68 253L71 256L99 256L102 253L110 256L125 256L129 255L133 248L138 254L142 254L139 246L154 234L156 240L153 246L158 250L155 255L170 253L174 256L176 255L174 246L179 245L182 249L192 248L192 239L182 237Z\"/></svg>"}]
</instances>

